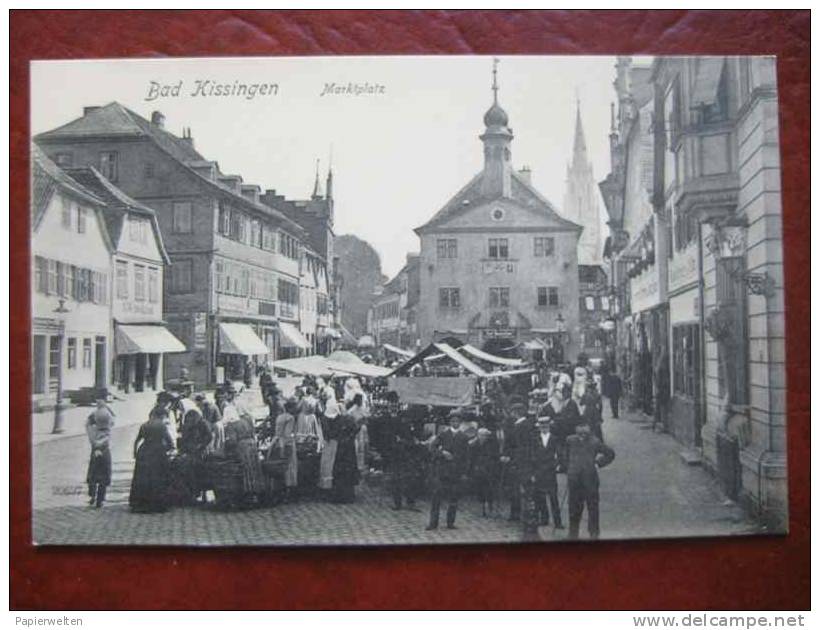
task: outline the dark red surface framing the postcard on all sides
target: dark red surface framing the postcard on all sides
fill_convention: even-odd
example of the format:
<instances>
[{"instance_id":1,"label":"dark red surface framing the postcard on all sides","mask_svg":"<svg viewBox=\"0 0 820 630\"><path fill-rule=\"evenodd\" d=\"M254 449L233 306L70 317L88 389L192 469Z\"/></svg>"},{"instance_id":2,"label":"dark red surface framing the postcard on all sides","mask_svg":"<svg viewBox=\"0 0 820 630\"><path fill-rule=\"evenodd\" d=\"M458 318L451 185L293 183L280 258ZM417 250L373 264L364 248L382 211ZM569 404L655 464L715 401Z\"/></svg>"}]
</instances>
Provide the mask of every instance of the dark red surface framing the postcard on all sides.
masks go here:
<instances>
[{"instance_id":1,"label":"dark red surface framing the postcard on all sides","mask_svg":"<svg viewBox=\"0 0 820 630\"><path fill-rule=\"evenodd\" d=\"M11 606L808 608L809 19L808 11L12 12ZM778 56L788 536L375 549L31 546L29 312L23 298L29 282L29 60L382 53Z\"/></svg>"}]
</instances>

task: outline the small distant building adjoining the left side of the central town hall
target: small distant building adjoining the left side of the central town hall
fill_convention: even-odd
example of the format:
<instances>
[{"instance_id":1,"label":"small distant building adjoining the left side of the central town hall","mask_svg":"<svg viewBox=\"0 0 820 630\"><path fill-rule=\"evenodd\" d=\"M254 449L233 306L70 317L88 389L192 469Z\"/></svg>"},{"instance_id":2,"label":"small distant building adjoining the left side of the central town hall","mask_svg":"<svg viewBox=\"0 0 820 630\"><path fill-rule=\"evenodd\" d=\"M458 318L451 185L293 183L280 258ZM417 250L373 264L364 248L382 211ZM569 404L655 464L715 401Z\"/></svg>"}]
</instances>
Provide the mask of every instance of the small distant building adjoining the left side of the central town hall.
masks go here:
<instances>
[{"instance_id":1,"label":"small distant building adjoining the left side of the central town hall","mask_svg":"<svg viewBox=\"0 0 820 630\"><path fill-rule=\"evenodd\" d=\"M407 254L404 267L387 282L370 309L369 334L377 346L390 344L406 350L421 345L418 336L419 255Z\"/></svg>"}]
</instances>

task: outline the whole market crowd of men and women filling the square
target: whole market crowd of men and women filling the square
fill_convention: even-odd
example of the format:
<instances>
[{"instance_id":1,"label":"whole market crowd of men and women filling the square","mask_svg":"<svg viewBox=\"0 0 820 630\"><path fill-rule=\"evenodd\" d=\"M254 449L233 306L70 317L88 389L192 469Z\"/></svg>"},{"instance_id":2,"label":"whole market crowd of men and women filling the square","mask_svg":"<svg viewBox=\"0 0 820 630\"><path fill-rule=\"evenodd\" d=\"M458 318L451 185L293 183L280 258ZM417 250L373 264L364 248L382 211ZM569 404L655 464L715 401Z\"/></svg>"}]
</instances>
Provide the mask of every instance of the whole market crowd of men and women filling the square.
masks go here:
<instances>
[{"instance_id":1,"label":"whole market crowd of men and women filling the square","mask_svg":"<svg viewBox=\"0 0 820 630\"><path fill-rule=\"evenodd\" d=\"M351 503L364 475L386 480L394 510L430 503L427 529L457 527L460 500L472 495L483 516L539 526L577 538L587 513L591 538L600 533L598 469L615 453L603 430L604 390L618 417L620 381L586 362L540 366L531 377L495 379L470 408L402 404L383 383L356 377L304 377L289 395L269 372L259 379L268 413L255 418L230 383L204 394L160 392L134 442L129 505L161 512L175 505L230 507L281 501ZM89 499L100 507L111 479L114 414L99 401L87 422L91 444ZM559 497L558 476L567 491Z\"/></svg>"}]
</instances>

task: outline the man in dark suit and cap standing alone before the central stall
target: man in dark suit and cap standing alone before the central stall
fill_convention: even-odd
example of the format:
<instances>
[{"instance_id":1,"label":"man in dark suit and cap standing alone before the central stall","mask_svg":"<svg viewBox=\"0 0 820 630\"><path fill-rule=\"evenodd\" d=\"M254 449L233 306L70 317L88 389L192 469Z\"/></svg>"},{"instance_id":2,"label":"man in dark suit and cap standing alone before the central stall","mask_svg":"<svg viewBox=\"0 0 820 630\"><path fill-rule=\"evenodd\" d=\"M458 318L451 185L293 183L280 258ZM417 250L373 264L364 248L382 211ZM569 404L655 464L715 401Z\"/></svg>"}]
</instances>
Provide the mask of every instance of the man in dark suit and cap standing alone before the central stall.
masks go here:
<instances>
[{"instance_id":1,"label":"man in dark suit and cap standing alone before the central stall","mask_svg":"<svg viewBox=\"0 0 820 630\"><path fill-rule=\"evenodd\" d=\"M456 512L461 488L467 481L470 465L470 445L467 436L459 431L462 414L455 409L450 412L450 426L439 433L430 443L433 453L431 470L432 500L430 522L427 529L437 529L442 498L447 500L447 529L456 528Z\"/></svg>"}]
</instances>

